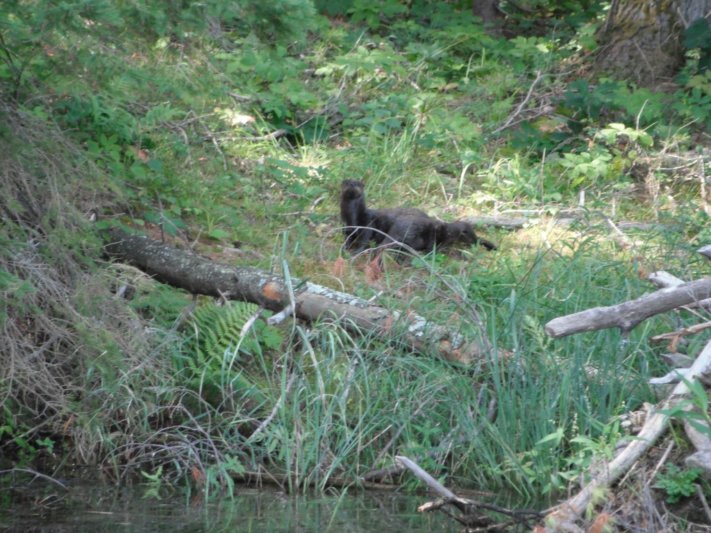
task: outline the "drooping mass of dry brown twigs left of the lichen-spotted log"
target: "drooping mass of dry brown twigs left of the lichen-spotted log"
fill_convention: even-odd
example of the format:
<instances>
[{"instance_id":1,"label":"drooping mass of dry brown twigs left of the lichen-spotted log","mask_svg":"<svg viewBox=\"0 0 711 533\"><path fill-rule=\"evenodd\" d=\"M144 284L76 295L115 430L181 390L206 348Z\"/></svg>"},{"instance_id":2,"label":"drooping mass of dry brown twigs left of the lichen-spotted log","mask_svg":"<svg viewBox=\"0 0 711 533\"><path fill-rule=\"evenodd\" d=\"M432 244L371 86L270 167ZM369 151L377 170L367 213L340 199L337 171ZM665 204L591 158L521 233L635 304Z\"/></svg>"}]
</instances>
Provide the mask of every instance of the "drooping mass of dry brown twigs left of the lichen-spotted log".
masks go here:
<instances>
[{"instance_id":1,"label":"drooping mass of dry brown twigs left of the lichen-spotted log","mask_svg":"<svg viewBox=\"0 0 711 533\"><path fill-rule=\"evenodd\" d=\"M157 341L102 275L100 239L87 239L85 213L108 193L100 171L11 104L0 101L0 117L0 416L25 441L63 435L92 461L109 428L87 423L85 408L115 420L94 392L158 371Z\"/></svg>"}]
</instances>

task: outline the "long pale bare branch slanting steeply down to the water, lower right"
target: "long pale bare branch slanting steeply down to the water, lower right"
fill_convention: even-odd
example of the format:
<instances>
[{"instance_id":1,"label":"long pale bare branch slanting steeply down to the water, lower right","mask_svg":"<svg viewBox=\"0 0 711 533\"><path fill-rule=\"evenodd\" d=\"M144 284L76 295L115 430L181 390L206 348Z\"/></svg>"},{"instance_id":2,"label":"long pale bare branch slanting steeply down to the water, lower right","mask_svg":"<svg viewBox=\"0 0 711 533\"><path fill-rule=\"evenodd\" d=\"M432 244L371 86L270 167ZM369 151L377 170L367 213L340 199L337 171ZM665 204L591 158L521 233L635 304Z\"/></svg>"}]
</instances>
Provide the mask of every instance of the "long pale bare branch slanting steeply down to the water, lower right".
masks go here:
<instances>
[{"instance_id":1,"label":"long pale bare branch slanting steeply down to the water, lower right","mask_svg":"<svg viewBox=\"0 0 711 533\"><path fill-rule=\"evenodd\" d=\"M692 367L688 370L685 379L691 382L696 376L706 372L709 367L711 367L711 341L705 345ZM655 409L655 411L673 407L676 402L683 399L684 395L689 392L689 387L687 387L686 383L680 382L661 407ZM585 485L577 495L561 505L557 505L550 515L546 517L545 531L570 531L570 526L582 516L587 506L591 504L595 492L609 487L611 483L614 483L629 470L635 461L664 433L667 427L667 420L668 417L665 414L651 411L635 440L631 441L612 461L604 465L599 475Z\"/></svg>"}]
</instances>

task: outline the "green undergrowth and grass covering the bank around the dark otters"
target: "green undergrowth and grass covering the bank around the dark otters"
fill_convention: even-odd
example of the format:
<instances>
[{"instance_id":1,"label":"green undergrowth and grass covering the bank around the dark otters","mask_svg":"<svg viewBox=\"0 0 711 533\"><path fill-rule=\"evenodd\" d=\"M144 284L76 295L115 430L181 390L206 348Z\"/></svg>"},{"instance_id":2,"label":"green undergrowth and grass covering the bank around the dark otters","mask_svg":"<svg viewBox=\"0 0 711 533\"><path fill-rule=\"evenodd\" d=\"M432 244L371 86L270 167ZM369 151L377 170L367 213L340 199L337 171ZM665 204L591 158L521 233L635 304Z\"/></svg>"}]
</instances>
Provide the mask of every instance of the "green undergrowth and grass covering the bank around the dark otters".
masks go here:
<instances>
[{"instance_id":1,"label":"green undergrowth and grass covering the bank around the dark otters","mask_svg":"<svg viewBox=\"0 0 711 533\"><path fill-rule=\"evenodd\" d=\"M652 91L582 77L597 3L558 2L513 38L448 2L408 5L1 4L6 455L62 450L73 459L49 473L97 463L206 495L265 472L347 486L407 455L448 485L530 502L626 438L616 416L654 401L647 380L666 372L648 338L688 317L629 338L543 326L640 296L656 269L705 271L707 50ZM497 252L373 275L341 250L343 179L375 207L525 224L478 229ZM328 320L269 325L105 262L96 230L117 225L454 330L476 331L475 308L493 350L458 367Z\"/></svg>"}]
</instances>

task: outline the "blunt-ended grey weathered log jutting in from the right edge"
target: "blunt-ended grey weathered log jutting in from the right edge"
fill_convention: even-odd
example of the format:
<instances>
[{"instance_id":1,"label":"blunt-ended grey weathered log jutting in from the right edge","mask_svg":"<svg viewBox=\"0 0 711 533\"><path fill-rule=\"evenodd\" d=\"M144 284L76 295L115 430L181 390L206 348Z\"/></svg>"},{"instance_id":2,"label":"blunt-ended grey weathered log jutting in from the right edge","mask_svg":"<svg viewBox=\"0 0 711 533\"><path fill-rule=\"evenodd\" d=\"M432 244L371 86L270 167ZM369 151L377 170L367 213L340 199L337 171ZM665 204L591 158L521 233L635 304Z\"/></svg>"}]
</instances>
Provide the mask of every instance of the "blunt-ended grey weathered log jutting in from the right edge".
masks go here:
<instances>
[{"instance_id":1,"label":"blunt-ended grey weathered log jutting in from the right edge","mask_svg":"<svg viewBox=\"0 0 711 533\"><path fill-rule=\"evenodd\" d=\"M606 328L620 328L627 333L651 316L709 297L711 278L697 279L616 306L595 307L554 318L545 325L545 333L553 338Z\"/></svg>"}]
</instances>

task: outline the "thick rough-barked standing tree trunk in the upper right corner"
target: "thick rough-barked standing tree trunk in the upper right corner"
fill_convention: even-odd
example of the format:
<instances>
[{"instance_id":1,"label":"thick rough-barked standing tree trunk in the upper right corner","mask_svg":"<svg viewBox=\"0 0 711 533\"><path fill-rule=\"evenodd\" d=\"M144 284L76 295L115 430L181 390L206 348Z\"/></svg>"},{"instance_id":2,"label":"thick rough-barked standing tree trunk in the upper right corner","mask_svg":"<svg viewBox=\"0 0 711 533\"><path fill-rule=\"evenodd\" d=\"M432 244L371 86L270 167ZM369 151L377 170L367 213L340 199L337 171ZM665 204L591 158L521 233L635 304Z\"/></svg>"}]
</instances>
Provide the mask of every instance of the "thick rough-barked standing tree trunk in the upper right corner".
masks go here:
<instances>
[{"instance_id":1,"label":"thick rough-barked standing tree trunk in the upper right corner","mask_svg":"<svg viewBox=\"0 0 711 533\"><path fill-rule=\"evenodd\" d=\"M683 64L685 29L710 11L711 0L612 0L595 70L641 87L669 81Z\"/></svg>"}]
</instances>

